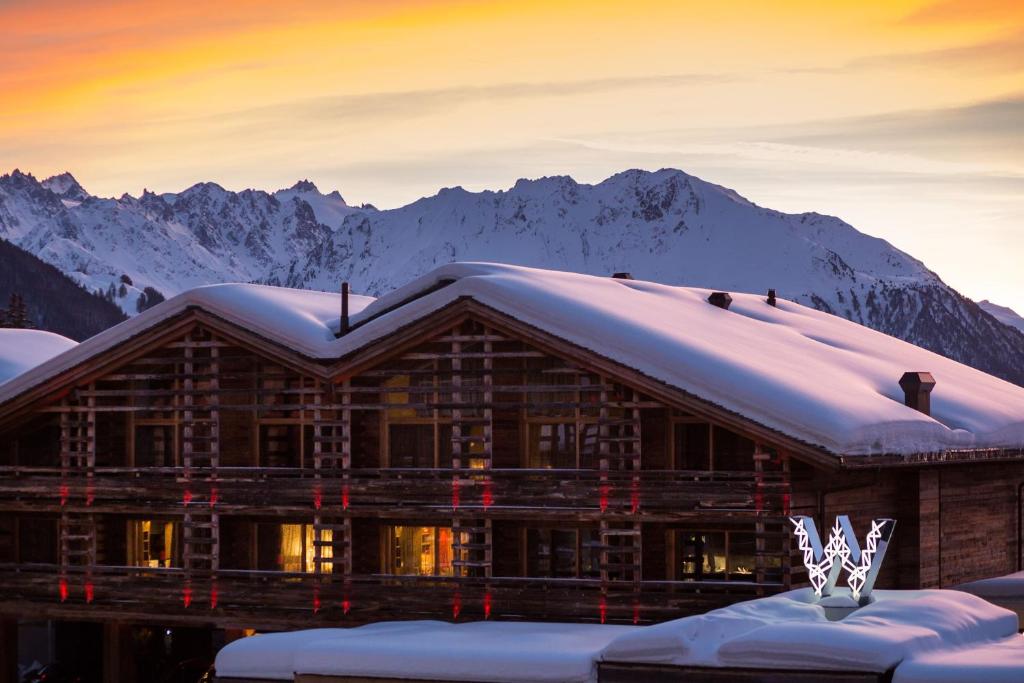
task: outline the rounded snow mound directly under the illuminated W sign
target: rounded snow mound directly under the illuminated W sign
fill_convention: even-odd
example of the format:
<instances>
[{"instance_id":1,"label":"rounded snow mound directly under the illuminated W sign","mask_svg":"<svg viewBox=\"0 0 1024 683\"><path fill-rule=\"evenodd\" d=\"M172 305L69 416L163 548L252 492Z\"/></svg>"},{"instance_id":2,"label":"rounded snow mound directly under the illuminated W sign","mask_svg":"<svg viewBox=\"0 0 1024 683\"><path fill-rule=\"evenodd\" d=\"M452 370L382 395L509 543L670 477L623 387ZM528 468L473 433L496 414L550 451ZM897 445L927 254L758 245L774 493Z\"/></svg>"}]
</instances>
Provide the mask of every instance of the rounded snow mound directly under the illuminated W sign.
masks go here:
<instances>
[{"instance_id":1,"label":"rounded snow mound directly under the illuminated W sign","mask_svg":"<svg viewBox=\"0 0 1024 683\"><path fill-rule=\"evenodd\" d=\"M958 591L874 591L874 602L829 622L811 589L740 602L638 629L605 661L886 672L932 651L1017 634L1017 615Z\"/></svg>"}]
</instances>

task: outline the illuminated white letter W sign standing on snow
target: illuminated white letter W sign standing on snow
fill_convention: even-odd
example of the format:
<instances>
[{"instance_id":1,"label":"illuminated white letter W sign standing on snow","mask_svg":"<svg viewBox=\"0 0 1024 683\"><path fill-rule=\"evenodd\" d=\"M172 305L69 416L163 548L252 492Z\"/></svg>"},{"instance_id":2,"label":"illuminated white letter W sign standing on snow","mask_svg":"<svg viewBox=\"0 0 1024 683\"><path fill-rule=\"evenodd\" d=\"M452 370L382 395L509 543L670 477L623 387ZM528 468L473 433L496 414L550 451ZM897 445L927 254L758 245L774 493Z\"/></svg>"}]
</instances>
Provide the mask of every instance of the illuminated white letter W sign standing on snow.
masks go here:
<instances>
[{"instance_id":1,"label":"illuminated white letter W sign standing on snow","mask_svg":"<svg viewBox=\"0 0 1024 683\"><path fill-rule=\"evenodd\" d=\"M857 543L853 525L846 515L836 518L828 543L823 547L813 519L801 516L790 517L790 521L796 526L797 545L804 553L804 566L807 567L815 595L819 598L831 595L840 572L846 569L851 596L861 604L865 603L874 588L874 580L882 568L882 560L886 557L886 548L889 547L896 520L871 520L871 530L867 532L863 549Z\"/></svg>"}]
</instances>

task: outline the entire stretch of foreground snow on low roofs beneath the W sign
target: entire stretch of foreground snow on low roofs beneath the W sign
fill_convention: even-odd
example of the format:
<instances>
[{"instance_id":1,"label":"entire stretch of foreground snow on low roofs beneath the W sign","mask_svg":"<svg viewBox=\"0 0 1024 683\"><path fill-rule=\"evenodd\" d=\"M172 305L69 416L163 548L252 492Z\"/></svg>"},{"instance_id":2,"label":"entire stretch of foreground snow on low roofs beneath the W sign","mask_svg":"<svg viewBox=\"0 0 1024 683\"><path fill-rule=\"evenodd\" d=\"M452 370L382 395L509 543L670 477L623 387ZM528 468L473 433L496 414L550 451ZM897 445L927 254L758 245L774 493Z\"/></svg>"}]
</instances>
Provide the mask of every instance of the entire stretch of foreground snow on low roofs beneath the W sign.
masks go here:
<instances>
[{"instance_id":1,"label":"entire stretch of foreground snow on low roofs beneath the W sign","mask_svg":"<svg viewBox=\"0 0 1024 683\"><path fill-rule=\"evenodd\" d=\"M870 604L830 621L800 589L648 627L399 622L269 634L227 645L216 668L219 679L245 681L598 683L658 668L680 672L662 680L739 669L1001 683L1024 680L1017 628L1015 613L958 591L874 591ZM959 678L928 678L944 667ZM630 668L633 678L622 678Z\"/></svg>"}]
</instances>

